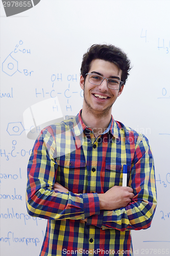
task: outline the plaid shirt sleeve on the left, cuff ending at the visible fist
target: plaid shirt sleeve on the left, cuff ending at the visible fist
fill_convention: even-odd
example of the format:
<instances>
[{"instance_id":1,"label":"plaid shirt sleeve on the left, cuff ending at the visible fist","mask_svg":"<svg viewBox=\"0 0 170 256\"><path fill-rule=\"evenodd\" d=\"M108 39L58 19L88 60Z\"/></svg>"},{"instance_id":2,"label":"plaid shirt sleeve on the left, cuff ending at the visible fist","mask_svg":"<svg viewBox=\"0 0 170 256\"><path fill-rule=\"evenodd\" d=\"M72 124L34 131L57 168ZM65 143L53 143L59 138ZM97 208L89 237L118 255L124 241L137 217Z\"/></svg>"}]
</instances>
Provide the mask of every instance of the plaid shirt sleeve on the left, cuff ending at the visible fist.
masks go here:
<instances>
[{"instance_id":1,"label":"plaid shirt sleeve on the left, cuff ending at the visible fist","mask_svg":"<svg viewBox=\"0 0 170 256\"><path fill-rule=\"evenodd\" d=\"M86 219L100 214L98 194L60 193L53 130L49 126L37 138L28 163L26 205L29 215L44 219Z\"/></svg>"}]
</instances>

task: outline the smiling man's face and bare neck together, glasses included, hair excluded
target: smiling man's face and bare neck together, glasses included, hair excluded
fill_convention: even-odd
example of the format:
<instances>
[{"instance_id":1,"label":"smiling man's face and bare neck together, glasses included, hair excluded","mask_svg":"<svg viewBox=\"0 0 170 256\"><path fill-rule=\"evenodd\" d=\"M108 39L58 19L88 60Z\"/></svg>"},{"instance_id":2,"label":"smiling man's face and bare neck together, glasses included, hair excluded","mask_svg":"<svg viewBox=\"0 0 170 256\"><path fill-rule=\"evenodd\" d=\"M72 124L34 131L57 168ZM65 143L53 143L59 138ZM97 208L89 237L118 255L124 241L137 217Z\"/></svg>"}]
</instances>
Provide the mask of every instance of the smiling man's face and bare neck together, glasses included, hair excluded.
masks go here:
<instances>
[{"instance_id":1,"label":"smiling man's face and bare neck together, glasses included, hair excluded","mask_svg":"<svg viewBox=\"0 0 170 256\"><path fill-rule=\"evenodd\" d=\"M92 130L100 128L101 132L102 128L104 132L108 127L112 105L124 88L123 82L120 81L121 74L122 70L119 70L114 63L94 59L85 77L81 75L80 86L84 90L81 117Z\"/></svg>"}]
</instances>

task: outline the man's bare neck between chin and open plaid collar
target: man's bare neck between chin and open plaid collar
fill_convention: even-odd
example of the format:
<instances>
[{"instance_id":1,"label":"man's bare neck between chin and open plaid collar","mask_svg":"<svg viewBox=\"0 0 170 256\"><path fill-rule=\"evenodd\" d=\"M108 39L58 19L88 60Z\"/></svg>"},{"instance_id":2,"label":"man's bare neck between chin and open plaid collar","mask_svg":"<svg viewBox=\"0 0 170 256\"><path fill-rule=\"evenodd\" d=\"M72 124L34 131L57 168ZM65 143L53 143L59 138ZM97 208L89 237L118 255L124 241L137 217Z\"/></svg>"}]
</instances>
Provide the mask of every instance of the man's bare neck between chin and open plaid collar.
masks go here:
<instances>
[{"instance_id":1,"label":"man's bare neck between chin and open plaid collar","mask_svg":"<svg viewBox=\"0 0 170 256\"><path fill-rule=\"evenodd\" d=\"M91 113L82 109L82 120L87 127L92 129L95 137L101 135L108 127L111 120L111 113L102 115L102 113Z\"/></svg>"}]
</instances>

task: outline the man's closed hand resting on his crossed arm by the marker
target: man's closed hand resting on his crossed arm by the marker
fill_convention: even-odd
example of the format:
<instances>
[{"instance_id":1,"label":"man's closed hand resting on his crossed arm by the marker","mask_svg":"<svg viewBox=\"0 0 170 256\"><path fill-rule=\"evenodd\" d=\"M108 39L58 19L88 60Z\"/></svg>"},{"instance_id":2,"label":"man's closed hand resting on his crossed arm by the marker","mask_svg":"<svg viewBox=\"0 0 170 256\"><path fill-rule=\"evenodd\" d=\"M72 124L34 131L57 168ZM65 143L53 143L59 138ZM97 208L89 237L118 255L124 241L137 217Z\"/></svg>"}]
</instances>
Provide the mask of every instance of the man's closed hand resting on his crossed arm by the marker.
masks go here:
<instances>
[{"instance_id":1,"label":"man's closed hand resting on his crossed arm by the marker","mask_svg":"<svg viewBox=\"0 0 170 256\"><path fill-rule=\"evenodd\" d=\"M126 207L135 195L131 187L113 186L98 196L101 210L115 210Z\"/></svg>"}]
</instances>

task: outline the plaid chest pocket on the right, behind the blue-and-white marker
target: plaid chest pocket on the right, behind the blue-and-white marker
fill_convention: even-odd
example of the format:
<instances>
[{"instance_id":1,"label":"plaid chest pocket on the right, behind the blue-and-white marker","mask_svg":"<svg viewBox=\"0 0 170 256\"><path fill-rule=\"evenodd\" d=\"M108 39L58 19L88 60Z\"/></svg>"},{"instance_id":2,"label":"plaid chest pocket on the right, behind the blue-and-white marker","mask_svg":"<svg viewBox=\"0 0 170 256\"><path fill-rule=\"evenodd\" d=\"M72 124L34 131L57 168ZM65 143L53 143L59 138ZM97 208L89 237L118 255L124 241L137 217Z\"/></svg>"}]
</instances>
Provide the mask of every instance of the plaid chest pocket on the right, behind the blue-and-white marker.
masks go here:
<instances>
[{"instance_id":1,"label":"plaid chest pocket on the right, behind the blue-and-white marker","mask_svg":"<svg viewBox=\"0 0 170 256\"><path fill-rule=\"evenodd\" d=\"M123 184L123 166L127 164L128 175L127 184L129 183L129 174L131 169L131 163L128 165L127 162L106 162L105 167L105 180L104 180L104 190L107 191L113 186L122 186Z\"/></svg>"}]
</instances>

